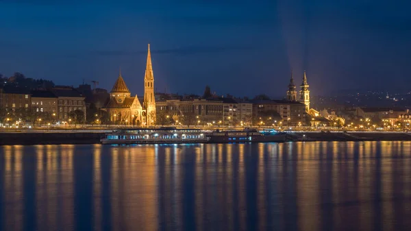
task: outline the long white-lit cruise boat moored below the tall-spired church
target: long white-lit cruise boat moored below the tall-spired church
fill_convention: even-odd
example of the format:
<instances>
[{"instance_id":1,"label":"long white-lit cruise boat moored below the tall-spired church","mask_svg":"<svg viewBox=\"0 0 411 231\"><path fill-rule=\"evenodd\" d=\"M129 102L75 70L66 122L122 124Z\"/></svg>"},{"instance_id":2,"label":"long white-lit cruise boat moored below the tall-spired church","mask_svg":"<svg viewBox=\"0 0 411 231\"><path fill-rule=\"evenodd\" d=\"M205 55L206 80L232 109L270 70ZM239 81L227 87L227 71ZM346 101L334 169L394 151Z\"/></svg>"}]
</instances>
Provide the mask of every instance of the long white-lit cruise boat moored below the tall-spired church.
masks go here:
<instances>
[{"instance_id":1,"label":"long white-lit cruise boat moored below the tall-spired church","mask_svg":"<svg viewBox=\"0 0 411 231\"><path fill-rule=\"evenodd\" d=\"M206 143L209 138L205 132L199 129L175 127L123 129L105 134L101 143L111 145Z\"/></svg>"}]
</instances>

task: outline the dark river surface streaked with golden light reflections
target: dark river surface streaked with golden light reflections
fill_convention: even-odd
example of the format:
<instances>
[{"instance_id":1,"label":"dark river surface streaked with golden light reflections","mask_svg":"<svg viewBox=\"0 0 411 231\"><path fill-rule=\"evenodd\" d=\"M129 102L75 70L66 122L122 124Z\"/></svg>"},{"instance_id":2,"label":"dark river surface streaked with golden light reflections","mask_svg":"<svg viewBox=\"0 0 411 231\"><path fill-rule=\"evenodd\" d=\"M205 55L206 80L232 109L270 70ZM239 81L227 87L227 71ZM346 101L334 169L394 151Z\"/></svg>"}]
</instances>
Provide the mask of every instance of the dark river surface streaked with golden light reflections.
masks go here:
<instances>
[{"instance_id":1,"label":"dark river surface streaked with golden light reflections","mask_svg":"<svg viewBox=\"0 0 411 231\"><path fill-rule=\"evenodd\" d=\"M3 146L0 230L411 230L411 143Z\"/></svg>"}]
</instances>

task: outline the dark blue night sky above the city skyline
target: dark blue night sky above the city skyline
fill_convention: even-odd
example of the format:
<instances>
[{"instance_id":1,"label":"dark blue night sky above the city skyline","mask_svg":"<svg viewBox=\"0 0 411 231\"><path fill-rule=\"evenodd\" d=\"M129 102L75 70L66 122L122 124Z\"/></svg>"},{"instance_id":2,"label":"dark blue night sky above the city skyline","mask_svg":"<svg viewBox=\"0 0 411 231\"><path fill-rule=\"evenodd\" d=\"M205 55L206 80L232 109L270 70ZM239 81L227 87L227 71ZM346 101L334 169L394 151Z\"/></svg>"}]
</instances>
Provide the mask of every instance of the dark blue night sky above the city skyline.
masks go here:
<instances>
[{"instance_id":1,"label":"dark blue night sky above the city skyline","mask_svg":"<svg viewBox=\"0 0 411 231\"><path fill-rule=\"evenodd\" d=\"M121 66L142 95L150 42L159 91L279 97L291 68L314 95L410 86L408 1L103 2L0 0L0 73L110 89Z\"/></svg>"}]
</instances>

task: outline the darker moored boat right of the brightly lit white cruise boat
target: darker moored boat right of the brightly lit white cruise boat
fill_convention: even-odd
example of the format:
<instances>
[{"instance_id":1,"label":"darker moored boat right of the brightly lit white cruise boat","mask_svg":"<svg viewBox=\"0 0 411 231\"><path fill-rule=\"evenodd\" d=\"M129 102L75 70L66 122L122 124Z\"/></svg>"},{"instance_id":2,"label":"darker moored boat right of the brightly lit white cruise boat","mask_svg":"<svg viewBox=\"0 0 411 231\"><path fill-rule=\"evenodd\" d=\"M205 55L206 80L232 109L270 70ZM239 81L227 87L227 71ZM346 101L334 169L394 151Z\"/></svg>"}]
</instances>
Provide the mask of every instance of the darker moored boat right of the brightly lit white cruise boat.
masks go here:
<instances>
[{"instance_id":1,"label":"darker moored boat right of the brightly lit white cruise boat","mask_svg":"<svg viewBox=\"0 0 411 231\"><path fill-rule=\"evenodd\" d=\"M209 143L284 142L286 134L275 130L216 130L210 134Z\"/></svg>"}]
</instances>

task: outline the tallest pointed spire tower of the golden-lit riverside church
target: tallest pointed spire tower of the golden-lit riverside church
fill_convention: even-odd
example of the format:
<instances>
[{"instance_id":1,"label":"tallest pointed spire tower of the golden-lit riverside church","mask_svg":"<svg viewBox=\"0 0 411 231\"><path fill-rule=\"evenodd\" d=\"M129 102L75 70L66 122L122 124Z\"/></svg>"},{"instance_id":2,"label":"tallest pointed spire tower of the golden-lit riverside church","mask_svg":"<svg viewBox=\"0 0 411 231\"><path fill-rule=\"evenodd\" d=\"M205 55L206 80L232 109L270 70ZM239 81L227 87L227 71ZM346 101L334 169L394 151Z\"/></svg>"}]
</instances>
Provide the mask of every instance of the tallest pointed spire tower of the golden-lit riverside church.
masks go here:
<instances>
[{"instance_id":1,"label":"tallest pointed spire tower of the golden-lit riverside church","mask_svg":"<svg viewBox=\"0 0 411 231\"><path fill-rule=\"evenodd\" d=\"M147 125L155 125L155 95L154 95L154 75L151 65L150 45L147 53L147 66L144 77L144 108L146 111Z\"/></svg>"}]
</instances>

